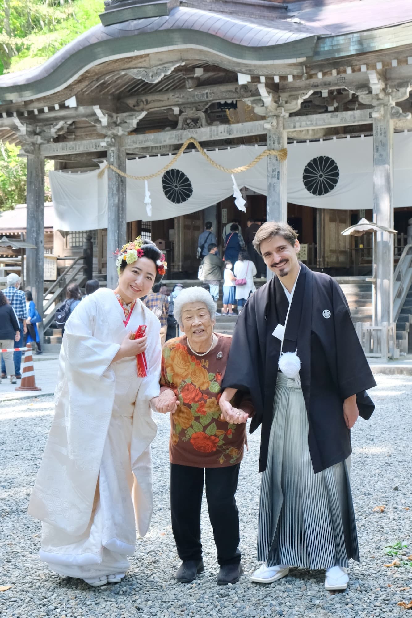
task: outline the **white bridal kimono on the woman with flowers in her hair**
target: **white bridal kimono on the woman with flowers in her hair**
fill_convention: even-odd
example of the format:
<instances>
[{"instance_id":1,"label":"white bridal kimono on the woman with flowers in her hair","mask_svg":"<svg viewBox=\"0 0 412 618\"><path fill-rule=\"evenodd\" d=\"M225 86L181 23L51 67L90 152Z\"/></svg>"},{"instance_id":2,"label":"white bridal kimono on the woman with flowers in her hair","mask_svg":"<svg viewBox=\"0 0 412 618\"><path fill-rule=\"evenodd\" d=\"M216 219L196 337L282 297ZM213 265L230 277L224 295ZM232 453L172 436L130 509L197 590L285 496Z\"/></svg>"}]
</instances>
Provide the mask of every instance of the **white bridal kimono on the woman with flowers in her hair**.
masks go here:
<instances>
[{"instance_id":1,"label":"white bridal kimono on the woman with flowers in her hair","mask_svg":"<svg viewBox=\"0 0 412 618\"><path fill-rule=\"evenodd\" d=\"M125 326L113 290L84 298L65 324L56 414L28 512L43 522L41 560L61 575L124 572L153 512L149 400L159 394L160 322L137 300ZM126 332L147 325L148 376L112 363Z\"/></svg>"}]
</instances>

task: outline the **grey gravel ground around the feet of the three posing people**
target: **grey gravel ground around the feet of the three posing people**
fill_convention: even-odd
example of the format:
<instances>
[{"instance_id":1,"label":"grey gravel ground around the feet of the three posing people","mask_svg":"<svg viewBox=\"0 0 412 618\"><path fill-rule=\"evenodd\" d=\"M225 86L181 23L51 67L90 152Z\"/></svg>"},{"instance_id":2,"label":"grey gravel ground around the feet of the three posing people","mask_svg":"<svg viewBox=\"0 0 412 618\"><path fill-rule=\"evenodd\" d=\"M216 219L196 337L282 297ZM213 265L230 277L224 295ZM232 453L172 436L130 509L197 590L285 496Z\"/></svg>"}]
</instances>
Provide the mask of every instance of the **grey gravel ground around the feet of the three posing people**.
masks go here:
<instances>
[{"instance_id":1,"label":"grey gravel ground around the feet of the three posing people","mask_svg":"<svg viewBox=\"0 0 412 618\"><path fill-rule=\"evenodd\" d=\"M179 559L170 528L169 426L165 417L157 418L159 431L153 445L155 512L151 530L137 541L123 582L96 590L80 580L49 572L38 559L40 523L27 516L27 503L51 424L52 399L0 403L0 586L11 585L0 592L0 616L395 618L408 614L397 603L412 599L412 567L385 567L393 557L385 556L384 547L403 541L410 544L406 556L412 552L412 378L378 376L373 397L377 409L372 420L358 421L353 431L351 478L362 562L351 563L348 590L335 594L324 590L324 572L320 571L292 569L288 577L269 586L252 584L248 579L258 566L258 432L250 436L250 452L243 460L237 493L245 575L237 585L216 585L216 555L204 508L206 570L191 584L175 582ZM374 511L381 505L385 506L383 512Z\"/></svg>"}]
</instances>

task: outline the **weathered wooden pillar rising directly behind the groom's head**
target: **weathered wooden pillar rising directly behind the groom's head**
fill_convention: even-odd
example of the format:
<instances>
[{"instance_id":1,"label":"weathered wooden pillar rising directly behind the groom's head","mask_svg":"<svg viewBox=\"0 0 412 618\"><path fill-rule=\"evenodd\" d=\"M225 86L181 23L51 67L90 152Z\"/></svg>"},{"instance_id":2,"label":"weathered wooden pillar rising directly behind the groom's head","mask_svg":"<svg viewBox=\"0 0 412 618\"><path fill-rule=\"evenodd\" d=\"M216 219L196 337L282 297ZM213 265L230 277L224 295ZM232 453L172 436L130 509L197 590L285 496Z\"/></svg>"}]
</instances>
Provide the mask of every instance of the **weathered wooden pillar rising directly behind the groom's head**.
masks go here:
<instances>
[{"instance_id":1,"label":"weathered wooden pillar rising directly behind the groom's head","mask_svg":"<svg viewBox=\"0 0 412 618\"><path fill-rule=\"evenodd\" d=\"M282 117L271 119L266 139L267 148L286 148L287 135ZM279 161L275 155L267 156L266 221L287 222L287 161ZM267 281L272 276L272 271L267 268Z\"/></svg>"}]
</instances>

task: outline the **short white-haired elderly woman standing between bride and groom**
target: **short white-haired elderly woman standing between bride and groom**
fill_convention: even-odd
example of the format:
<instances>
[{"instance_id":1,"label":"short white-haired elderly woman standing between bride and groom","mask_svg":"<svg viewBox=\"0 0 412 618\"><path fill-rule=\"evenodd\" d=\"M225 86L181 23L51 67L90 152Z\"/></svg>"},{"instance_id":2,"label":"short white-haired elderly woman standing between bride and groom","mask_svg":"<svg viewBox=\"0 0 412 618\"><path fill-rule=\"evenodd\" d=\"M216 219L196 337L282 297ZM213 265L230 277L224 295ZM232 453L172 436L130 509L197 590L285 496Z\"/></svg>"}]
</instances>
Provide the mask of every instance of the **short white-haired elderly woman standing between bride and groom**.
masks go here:
<instances>
[{"instance_id":1,"label":"short white-haired elderly woman standing between bride and groom","mask_svg":"<svg viewBox=\"0 0 412 618\"><path fill-rule=\"evenodd\" d=\"M220 418L221 383L232 337L213 332L215 315L216 303L206 290L182 290L175 299L174 316L184 335L167 341L162 350L157 409L172 412L170 509L182 560L176 573L179 582L191 582L203 571L200 510L204 476L220 565L217 583L235 583L243 572L235 492L246 430L245 425L229 425ZM253 412L250 399L242 393L232 405L243 420Z\"/></svg>"}]
</instances>

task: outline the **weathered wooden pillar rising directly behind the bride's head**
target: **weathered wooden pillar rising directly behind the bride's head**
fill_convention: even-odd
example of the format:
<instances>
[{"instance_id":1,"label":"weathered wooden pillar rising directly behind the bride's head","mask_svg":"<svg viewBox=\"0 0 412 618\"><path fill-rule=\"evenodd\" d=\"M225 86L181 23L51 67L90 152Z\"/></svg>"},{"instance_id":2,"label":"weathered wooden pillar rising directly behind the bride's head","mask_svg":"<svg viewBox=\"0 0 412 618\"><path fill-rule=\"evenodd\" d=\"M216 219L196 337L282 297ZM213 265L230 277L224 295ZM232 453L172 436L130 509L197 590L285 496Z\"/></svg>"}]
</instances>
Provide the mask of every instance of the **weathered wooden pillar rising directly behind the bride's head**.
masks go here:
<instances>
[{"instance_id":1,"label":"weathered wooden pillar rising directly behind the bride's head","mask_svg":"<svg viewBox=\"0 0 412 618\"><path fill-rule=\"evenodd\" d=\"M112 139L112 145L107 149L107 162L122 172L126 171L126 150L120 145L120 137ZM114 289L117 286L117 272L113 253L128 240L126 179L111 169L107 172L107 287Z\"/></svg>"}]
</instances>

